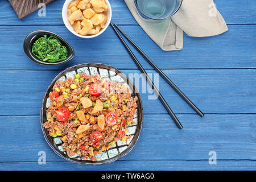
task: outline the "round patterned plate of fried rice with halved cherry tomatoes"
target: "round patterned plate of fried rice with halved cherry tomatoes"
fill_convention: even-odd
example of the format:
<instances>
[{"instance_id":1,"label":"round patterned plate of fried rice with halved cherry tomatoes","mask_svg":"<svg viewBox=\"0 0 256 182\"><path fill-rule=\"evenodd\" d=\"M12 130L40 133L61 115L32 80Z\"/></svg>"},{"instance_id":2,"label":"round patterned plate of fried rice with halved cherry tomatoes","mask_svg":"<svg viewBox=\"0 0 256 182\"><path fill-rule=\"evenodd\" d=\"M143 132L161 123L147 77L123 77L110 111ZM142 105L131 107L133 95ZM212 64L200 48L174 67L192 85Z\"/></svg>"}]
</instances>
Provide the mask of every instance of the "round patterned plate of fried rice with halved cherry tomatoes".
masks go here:
<instances>
[{"instance_id":1,"label":"round patterned plate of fried rice with halved cherry tomatoes","mask_svg":"<svg viewBox=\"0 0 256 182\"><path fill-rule=\"evenodd\" d=\"M79 64L59 73L43 97L49 146L69 162L99 165L128 154L142 129L141 97L117 68Z\"/></svg>"}]
</instances>

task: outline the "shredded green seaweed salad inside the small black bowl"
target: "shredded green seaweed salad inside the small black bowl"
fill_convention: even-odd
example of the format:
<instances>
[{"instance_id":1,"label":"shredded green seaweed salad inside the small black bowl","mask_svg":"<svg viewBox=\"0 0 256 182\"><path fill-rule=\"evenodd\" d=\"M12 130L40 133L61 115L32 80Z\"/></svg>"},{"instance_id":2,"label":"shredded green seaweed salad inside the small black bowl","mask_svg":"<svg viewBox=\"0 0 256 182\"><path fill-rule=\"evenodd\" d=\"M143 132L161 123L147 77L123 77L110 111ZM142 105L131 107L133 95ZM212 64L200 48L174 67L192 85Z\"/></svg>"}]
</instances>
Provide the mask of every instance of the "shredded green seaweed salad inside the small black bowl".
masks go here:
<instances>
[{"instance_id":1,"label":"shredded green seaweed salad inside the small black bowl","mask_svg":"<svg viewBox=\"0 0 256 182\"><path fill-rule=\"evenodd\" d=\"M42 61L55 63L67 59L67 47L62 46L55 36L44 35L33 44L32 53Z\"/></svg>"}]
</instances>

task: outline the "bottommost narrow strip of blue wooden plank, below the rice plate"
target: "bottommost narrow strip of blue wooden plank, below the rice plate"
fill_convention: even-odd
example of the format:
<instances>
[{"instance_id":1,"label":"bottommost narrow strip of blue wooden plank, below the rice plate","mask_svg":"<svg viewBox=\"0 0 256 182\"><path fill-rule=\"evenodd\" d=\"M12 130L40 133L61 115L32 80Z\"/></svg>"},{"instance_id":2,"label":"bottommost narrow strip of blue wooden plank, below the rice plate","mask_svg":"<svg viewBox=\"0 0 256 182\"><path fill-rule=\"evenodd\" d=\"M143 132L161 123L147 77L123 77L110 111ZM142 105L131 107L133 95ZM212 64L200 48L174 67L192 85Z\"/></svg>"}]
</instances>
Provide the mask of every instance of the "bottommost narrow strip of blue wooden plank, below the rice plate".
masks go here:
<instances>
[{"instance_id":1,"label":"bottommost narrow strip of blue wooden plank, below the rice plate","mask_svg":"<svg viewBox=\"0 0 256 182\"><path fill-rule=\"evenodd\" d=\"M102 166L85 166L68 162L46 162L45 165L39 165L38 162L22 163L1 163L0 170L43 170L43 171L182 171L182 170L207 170L207 171L254 171L255 161L247 160L218 160L216 165L210 165L208 160L184 161L184 160L139 160L139 161L117 161Z\"/></svg>"}]
</instances>

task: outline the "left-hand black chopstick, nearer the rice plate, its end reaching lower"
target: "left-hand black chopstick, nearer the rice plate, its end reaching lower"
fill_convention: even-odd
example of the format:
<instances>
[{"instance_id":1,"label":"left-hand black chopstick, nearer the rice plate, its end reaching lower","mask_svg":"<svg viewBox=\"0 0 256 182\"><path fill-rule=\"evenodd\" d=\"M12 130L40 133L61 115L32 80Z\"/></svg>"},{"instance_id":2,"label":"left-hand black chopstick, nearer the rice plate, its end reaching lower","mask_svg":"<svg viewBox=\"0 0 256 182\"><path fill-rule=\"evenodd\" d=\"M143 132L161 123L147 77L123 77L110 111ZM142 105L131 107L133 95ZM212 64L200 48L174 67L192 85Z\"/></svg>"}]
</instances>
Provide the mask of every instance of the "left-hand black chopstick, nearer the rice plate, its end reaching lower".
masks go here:
<instances>
[{"instance_id":1,"label":"left-hand black chopstick, nearer the rice plate, its end reaching lower","mask_svg":"<svg viewBox=\"0 0 256 182\"><path fill-rule=\"evenodd\" d=\"M159 90L157 88L155 88L155 84L154 82L152 82L152 80L150 79L150 77L148 77L147 72L144 70L144 68L142 67L141 63L139 63L138 59L135 57L134 53L131 51L131 49L127 46L125 40L123 40L122 36L119 34L119 32L117 31L117 29L115 29L114 25L112 23L110 23L115 34L117 34L118 38L121 40L121 42L123 43L123 46L125 46L125 48L127 49L127 51L129 52L131 58L134 60L135 64L137 64L138 68L141 70L141 72L143 73L143 76L146 78L148 84L150 84L151 88L154 90L156 96L159 97L159 100L162 102L163 106L166 108L167 112L170 114L171 118L174 120L175 124L177 125L177 127L179 129L182 129L183 126L181 125L179 119L177 119L176 115L174 114L174 112L171 110L171 107L167 104L166 100L164 100L162 94L159 92Z\"/></svg>"}]
</instances>

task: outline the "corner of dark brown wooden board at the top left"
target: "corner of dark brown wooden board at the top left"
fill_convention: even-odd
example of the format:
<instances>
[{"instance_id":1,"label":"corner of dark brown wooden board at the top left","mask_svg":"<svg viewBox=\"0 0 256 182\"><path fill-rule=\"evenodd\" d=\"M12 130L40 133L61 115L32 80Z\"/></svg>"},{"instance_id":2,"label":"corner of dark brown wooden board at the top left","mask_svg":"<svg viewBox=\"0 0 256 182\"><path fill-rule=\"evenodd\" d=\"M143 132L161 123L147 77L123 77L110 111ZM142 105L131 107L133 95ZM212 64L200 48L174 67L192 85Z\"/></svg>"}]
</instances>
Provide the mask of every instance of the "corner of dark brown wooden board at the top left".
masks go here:
<instances>
[{"instance_id":1,"label":"corner of dark brown wooden board at the top left","mask_svg":"<svg viewBox=\"0 0 256 182\"><path fill-rule=\"evenodd\" d=\"M19 18L24 18L30 13L40 9L38 7L39 3L45 3L46 5L49 2L54 0L8 0L13 6L14 11L18 15Z\"/></svg>"}]
</instances>

